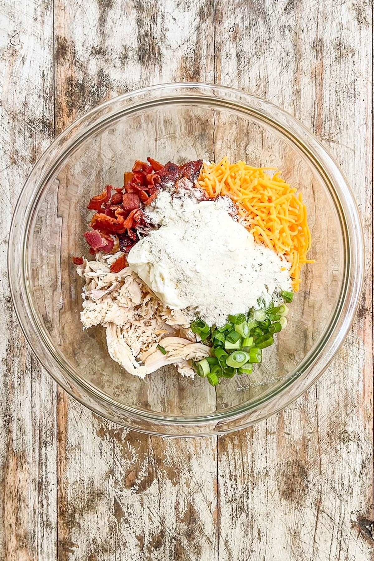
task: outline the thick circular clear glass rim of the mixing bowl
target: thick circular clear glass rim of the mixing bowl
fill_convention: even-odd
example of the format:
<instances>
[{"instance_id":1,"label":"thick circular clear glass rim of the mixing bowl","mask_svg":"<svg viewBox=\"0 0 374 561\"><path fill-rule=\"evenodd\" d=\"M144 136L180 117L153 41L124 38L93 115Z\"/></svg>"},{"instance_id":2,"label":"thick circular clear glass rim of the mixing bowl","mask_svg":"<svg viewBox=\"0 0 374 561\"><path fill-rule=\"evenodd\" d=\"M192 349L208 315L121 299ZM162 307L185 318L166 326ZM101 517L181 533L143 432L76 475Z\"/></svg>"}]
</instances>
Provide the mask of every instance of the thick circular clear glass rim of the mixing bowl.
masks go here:
<instances>
[{"instance_id":1,"label":"thick circular clear glass rim of the mixing bowl","mask_svg":"<svg viewBox=\"0 0 374 561\"><path fill-rule=\"evenodd\" d=\"M227 408L225 410L216 411L213 413L209 413L204 416L195 416L195 417L182 417L176 415L170 415L167 413L159 413L159 412L148 412L145 410L139 410L137 408L133 408L132 406L123 405L121 402L117 401L112 396L106 394L103 390L95 387L89 381L85 380L81 376L76 376L75 373L70 369L67 368L59 357L57 356L56 350L51 351L50 345L47 337L47 341L44 340L44 344L42 345L44 353L40 353L40 339L38 341L38 337L43 341L43 330L40 332L40 326L38 326L38 322L35 322L35 319L32 320L30 318L32 310L30 310L30 306L27 305L27 302L30 304L28 300L29 294L26 289L26 284L24 283L25 279L25 272L27 270L26 264L26 251L27 251L27 243L22 245L21 242L26 240L27 234L29 233L29 225L31 220L32 210L35 208L36 204L38 203L38 199L43 192L43 186L45 185L46 177L45 174L40 176L40 171L43 171L43 166L47 165L47 172L51 172L50 166L52 166L52 171L56 169L58 165L58 160L50 159L51 155L54 152L59 150L59 146L61 143L64 142L71 142L70 135L76 130L77 127L84 126L87 121L89 124L83 128L82 131L78 131L76 134L75 141L71 144L68 144L68 150L72 151L76 144L82 141L82 137L85 134L92 134L94 127L103 126L103 123L108 124L108 119L112 115L118 118L118 110L115 110L112 113L109 113L109 117L105 116L105 109L113 108L116 104L121 105L126 103L128 100L132 100L135 98L135 101L128 107L132 108L133 111L137 108L141 108L141 104L137 101L142 98L142 96L147 96L148 94L158 94L156 96L151 96L151 100L154 101L155 104L160 104L160 100L165 103L165 100L173 100L172 96L168 96L169 92L176 90L179 91L178 101L183 100L183 96L181 96L181 91L183 92L184 96L186 96L190 102L192 100L200 99L199 95L202 96L206 100L206 103L217 103L221 102L221 105L227 107L227 104L234 105L234 107L240 108L241 111L245 108L247 111L250 111L252 114L260 111L262 118L266 117L267 122L270 122L272 125L276 126L277 128L281 128L281 132L284 134L285 131L288 132L288 135L292 138L293 142L298 146L301 145L301 149L304 154L307 155L308 158L313 160L313 163L317 164L318 171L324 177L325 183L327 188L329 188L330 195L335 194L334 204L338 203L341 207L341 213L344 217L345 226L347 227L347 242L348 242L348 263L345 267L345 282L342 283L342 287L344 286L344 291L342 290L340 295L340 300L338 302L338 306L335 309L339 311L338 317L336 318L336 313L334 315L335 323L332 325L330 329L330 333L325 340L324 346L318 353L314 353L316 355L316 360L313 361L313 364L319 360L324 355L324 350L326 348L327 343L331 341L331 338L335 334L335 341L331 344L329 348L329 352L325 358L322 365L320 365L318 369L318 373L316 375L312 375L311 370L315 368L315 366L311 365L306 367L301 378L308 378L306 383L301 384L300 391L297 391L293 396L289 399L283 399L281 404L278 407L271 409L271 411L267 411L271 403L274 403L274 399L280 396L284 396L287 388L290 384L293 383L292 379L288 380L288 383L283 383L280 387L275 387L271 392L266 393L264 398L258 399L254 406L251 406L251 402L247 402L241 404L239 406L234 406L231 408ZM199 95L191 94L191 90L193 92L197 92ZM234 102L232 99L229 101L228 99L230 96L233 96ZM145 100L145 104L149 106L149 100ZM104 116L100 117L101 113L104 112ZM270 112L270 115L269 113ZM98 118L99 116L99 118ZM96 117L92 122L91 120ZM114 118L113 117L113 118ZM310 148L311 145L311 148ZM317 151L317 154L315 154ZM50 159L50 162L49 162ZM49 162L49 167L48 167ZM52 165L53 163L53 165ZM45 172L45 173L47 173ZM27 194L27 204L23 204L25 194ZM22 203L22 204L21 204ZM26 207L26 209L25 209ZM339 217L340 217L340 213ZM27 218L26 221L20 220L21 215ZM347 218L348 224L347 224ZM19 226L19 222L21 226ZM343 228L342 228L343 229ZM354 233L354 236L352 235ZM52 378L57 381L58 384L62 385L62 387L75 399L78 399L82 404L86 407L89 407L91 410L98 412L103 417L115 421L119 424L124 426L130 426L130 428L135 430L142 430L138 427L132 426L132 418L140 419L141 421L152 421L152 424L158 425L158 430L148 430L151 427L147 427L144 431L147 433L153 434L173 434L173 430L170 432L171 426L178 426L181 427L183 425L191 425L191 426L207 426L214 424L214 430L212 431L209 429L206 433L199 433L198 435L209 435L209 434L217 434L220 432L226 433L230 430L237 430L244 426L248 426L253 424L253 422L258 422L261 419L265 419L270 415L273 415L275 412L287 407L289 403L297 399L301 394L303 394L310 385L312 385L318 377L326 370L329 366L331 361L333 360L336 353L339 351L341 344L343 344L345 337L347 337L348 331L352 326L354 321L354 316L357 311L359 300L361 298L362 288L363 288L363 272L364 272L364 238L363 238L363 229L361 224L361 219L359 217L358 207L355 203L355 199L350 189L347 180L345 179L343 173L341 173L338 164L335 162L333 157L329 154L329 152L325 149L322 143L317 139L315 135L312 134L298 119L295 119L290 113L280 109L273 103L267 102L264 99L261 99L258 96L248 94L242 90L228 88L227 86L220 86L215 84L206 84L204 82L171 82L168 84L156 84L152 86L148 86L147 88L142 88L138 90L133 90L128 93L122 94L120 96L116 96L112 99L107 100L106 102L98 105L97 107L91 109L89 112L85 113L75 121L71 123L66 129L64 129L61 134L59 134L56 139L49 145L49 147L44 151L41 155L39 160L35 163L33 169L31 170L29 176L26 179L25 185L22 188L19 199L17 201L15 211L13 213L12 222L11 222L11 229L10 229L10 237L9 237L9 245L8 245L8 279L10 283L10 291L11 291L11 298L13 302L13 307L15 308L17 319L21 325L21 329L24 332L27 342L29 343L31 350L33 350L35 356L38 360L43 364L43 366L47 369ZM353 248L355 251L353 251ZM17 259L17 257L21 257L21 259ZM354 265L353 267L350 265ZM349 265L349 266L347 266ZM348 291L350 285L350 291ZM350 293L350 300L347 300L348 292ZM20 296L20 297L19 297ZM343 306L345 304L349 304L346 316L344 318L343 324L338 325L338 321L341 317L341 312L343 310ZM336 331L336 333L335 333ZM326 331L324 332L324 334ZM36 337L36 339L35 339ZM321 336L321 339L324 337ZM37 349L37 350L36 350ZM45 351L47 351L47 355L45 356ZM41 356L40 356L41 355ZM49 358L49 360L47 360ZM56 369L52 368L50 365L50 360L54 362L54 366L57 367L57 370L62 375L57 375ZM301 362L303 364L303 361ZM87 404L84 399L77 396L76 392L74 391L75 388L71 387L70 383L66 380L67 378L73 378L75 383L84 390L85 393L90 394L94 401L98 398L101 401L106 402L109 406L114 408L119 408L120 410L124 411L126 415L128 415L128 421L123 422L121 419L118 419L116 416L110 415L107 411L102 410L100 408L95 408L92 404ZM286 392L287 393L287 392ZM248 406L248 403L250 404ZM228 427L224 430L220 430L219 424L220 421L230 422L230 421L237 421L240 420L244 415L251 413L253 411L261 410L262 405L266 404L266 408L264 411L264 415L258 415L255 420L244 420L243 424L235 425L233 427ZM235 424L235 423L234 423ZM169 425L168 431L163 431L162 427L165 425ZM160 431L161 429L161 431ZM177 430L176 434L173 435L181 435L181 431Z\"/></svg>"}]
</instances>

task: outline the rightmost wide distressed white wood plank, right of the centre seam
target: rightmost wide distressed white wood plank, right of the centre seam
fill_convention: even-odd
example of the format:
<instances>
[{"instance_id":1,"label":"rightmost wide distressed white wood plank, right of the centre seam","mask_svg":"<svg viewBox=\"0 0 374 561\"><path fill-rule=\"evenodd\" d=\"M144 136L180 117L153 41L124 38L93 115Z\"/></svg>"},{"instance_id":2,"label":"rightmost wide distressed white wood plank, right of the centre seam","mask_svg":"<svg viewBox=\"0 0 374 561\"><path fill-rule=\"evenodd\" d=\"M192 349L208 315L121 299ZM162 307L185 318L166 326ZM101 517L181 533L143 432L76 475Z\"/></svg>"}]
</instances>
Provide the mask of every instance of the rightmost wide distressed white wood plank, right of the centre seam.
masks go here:
<instances>
[{"instance_id":1,"label":"rightmost wide distressed white wood plank, right of the centre seam","mask_svg":"<svg viewBox=\"0 0 374 561\"><path fill-rule=\"evenodd\" d=\"M237 1L215 15L217 80L315 131L352 185L367 249L333 365L284 412L219 439L219 559L372 559L371 3Z\"/></svg>"}]
</instances>

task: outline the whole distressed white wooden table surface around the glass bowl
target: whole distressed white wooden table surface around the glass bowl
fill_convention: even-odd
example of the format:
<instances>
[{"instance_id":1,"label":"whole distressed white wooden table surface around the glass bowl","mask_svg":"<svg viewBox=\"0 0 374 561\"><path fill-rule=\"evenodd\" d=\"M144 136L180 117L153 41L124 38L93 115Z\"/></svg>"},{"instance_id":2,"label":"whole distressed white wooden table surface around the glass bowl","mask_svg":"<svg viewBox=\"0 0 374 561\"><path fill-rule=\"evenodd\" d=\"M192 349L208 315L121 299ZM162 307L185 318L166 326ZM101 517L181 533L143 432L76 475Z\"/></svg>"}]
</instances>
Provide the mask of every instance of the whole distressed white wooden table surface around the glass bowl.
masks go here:
<instances>
[{"instance_id":1,"label":"whole distressed white wooden table surface around the glass bowl","mask_svg":"<svg viewBox=\"0 0 374 561\"><path fill-rule=\"evenodd\" d=\"M0 560L373 559L372 3L0 0ZM283 412L219 438L100 419L25 343L7 237L36 159L76 117L149 84L269 99L331 151L366 237L357 319Z\"/></svg>"}]
</instances>

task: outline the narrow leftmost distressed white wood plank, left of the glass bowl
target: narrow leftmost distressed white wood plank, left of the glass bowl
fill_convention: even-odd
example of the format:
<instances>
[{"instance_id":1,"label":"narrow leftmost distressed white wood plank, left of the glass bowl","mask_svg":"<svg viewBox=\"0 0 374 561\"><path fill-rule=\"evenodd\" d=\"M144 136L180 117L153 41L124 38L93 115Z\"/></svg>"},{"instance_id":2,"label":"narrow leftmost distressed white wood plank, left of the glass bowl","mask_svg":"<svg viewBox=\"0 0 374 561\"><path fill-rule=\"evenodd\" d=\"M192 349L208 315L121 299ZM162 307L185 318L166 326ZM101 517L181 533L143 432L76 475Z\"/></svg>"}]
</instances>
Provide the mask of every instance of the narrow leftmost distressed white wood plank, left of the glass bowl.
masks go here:
<instances>
[{"instance_id":1,"label":"narrow leftmost distressed white wood plank, left of the glass bowl","mask_svg":"<svg viewBox=\"0 0 374 561\"><path fill-rule=\"evenodd\" d=\"M56 559L56 385L12 309L7 237L27 174L54 135L53 10L0 2L0 559Z\"/></svg>"}]
</instances>

